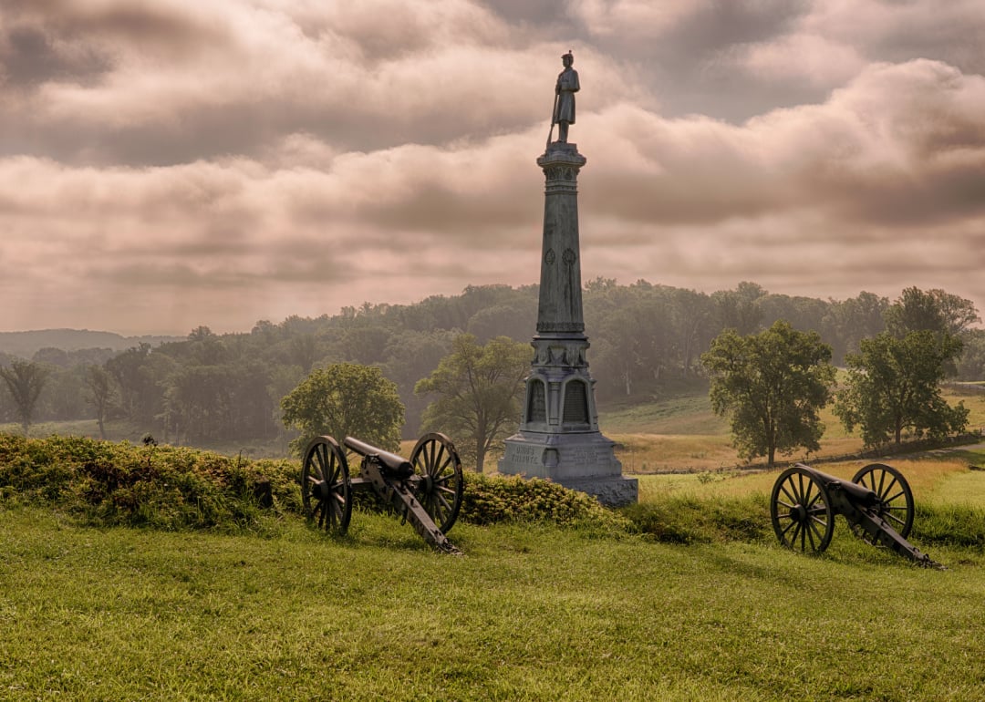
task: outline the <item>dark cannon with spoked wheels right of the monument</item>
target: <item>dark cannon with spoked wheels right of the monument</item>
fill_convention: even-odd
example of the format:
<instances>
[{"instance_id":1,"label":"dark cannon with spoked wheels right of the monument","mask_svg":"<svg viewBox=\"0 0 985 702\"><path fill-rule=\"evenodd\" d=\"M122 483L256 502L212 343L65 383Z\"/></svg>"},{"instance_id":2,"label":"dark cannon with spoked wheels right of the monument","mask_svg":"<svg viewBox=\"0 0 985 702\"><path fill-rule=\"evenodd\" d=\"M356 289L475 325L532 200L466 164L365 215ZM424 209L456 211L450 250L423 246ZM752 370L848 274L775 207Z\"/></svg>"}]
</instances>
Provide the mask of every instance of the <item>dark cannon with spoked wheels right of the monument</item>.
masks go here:
<instances>
[{"instance_id":1,"label":"dark cannon with spoked wheels right of the monument","mask_svg":"<svg viewBox=\"0 0 985 702\"><path fill-rule=\"evenodd\" d=\"M831 542L835 515L865 542L891 548L925 566L938 566L906 541L913 528L913 492L891 466L874 463L850 481L798 463L773 484L769 514L777 539L802 552L820 553Z\"/></svg>"}]
</instances>

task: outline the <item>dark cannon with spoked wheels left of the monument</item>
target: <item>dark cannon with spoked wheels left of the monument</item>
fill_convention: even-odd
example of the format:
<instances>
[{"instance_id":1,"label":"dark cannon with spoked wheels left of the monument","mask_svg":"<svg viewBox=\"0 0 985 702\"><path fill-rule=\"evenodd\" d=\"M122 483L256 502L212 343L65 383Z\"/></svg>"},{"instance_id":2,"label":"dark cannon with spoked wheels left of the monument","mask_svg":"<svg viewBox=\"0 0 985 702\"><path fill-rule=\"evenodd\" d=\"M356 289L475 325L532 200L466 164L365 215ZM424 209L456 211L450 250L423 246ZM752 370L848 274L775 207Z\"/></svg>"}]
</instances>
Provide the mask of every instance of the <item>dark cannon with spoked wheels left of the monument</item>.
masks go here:
<instances>
[{"instance_id":1,"label":"dark cannon with spoked wheels left of the monument","mask_svg":"<svg viewBox=\"0 0 985 702\"><path fill-rule=\"evenodd\" d=\"M372 490L431 546L461 553L445 537L458 518L465 485L458 452L447 436L425 434L410 459L351 436L343 443L361 456L359 476L350 477L346 452L331 436L315 437L304 449L301 502L309 522L345 534L353 512L353 493Z\"/></svg>"}]
</instances>

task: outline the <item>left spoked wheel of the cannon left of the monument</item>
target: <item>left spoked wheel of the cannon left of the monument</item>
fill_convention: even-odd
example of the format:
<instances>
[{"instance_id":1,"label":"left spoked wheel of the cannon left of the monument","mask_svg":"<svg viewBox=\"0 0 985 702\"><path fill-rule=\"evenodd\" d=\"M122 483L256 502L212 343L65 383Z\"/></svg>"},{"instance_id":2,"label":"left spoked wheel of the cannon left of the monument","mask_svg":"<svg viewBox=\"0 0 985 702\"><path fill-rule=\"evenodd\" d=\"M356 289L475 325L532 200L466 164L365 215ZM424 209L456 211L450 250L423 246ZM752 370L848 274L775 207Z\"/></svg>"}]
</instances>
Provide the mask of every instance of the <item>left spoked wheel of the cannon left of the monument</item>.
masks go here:
<instances>
[{"instance_id":1,"label":"left spoked wheel of the cannon left of the monument","mask_svg":"<svg viewBox=\"0 0 985 702\"><path fill-rule=\"evenodd\" d=\"M331 436L318 436L304 449L301 502L309 522L345 534L353 514L353 492L345 452Z\"/></svg>"}]
</instances>

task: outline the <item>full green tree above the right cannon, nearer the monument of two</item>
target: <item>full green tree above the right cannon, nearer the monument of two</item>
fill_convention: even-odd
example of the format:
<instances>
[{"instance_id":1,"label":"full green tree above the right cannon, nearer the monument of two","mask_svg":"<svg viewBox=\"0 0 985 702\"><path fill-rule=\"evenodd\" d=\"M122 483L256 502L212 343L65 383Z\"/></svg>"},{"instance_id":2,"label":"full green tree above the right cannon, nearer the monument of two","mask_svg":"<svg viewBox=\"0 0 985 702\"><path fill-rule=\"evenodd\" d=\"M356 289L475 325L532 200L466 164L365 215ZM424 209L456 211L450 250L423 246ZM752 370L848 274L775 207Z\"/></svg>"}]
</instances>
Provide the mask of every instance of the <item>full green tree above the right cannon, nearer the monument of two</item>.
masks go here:
<instances>
[{"instance_id":1,"label":"full green tree above the right cannon, nearer the monument of two","mask_svg":"<svg viewBox=\"0 0 985 702\"><path fill-rule=\"evenodd\" d=\"M834 382L830 358L817 332L798 332L782 320L746 337L727 329L712 341L701 355L711 406L730 416L740 457L765 456L772 466L777 451L821 448L818 413Z\"/></svg>"}]
</instances>

